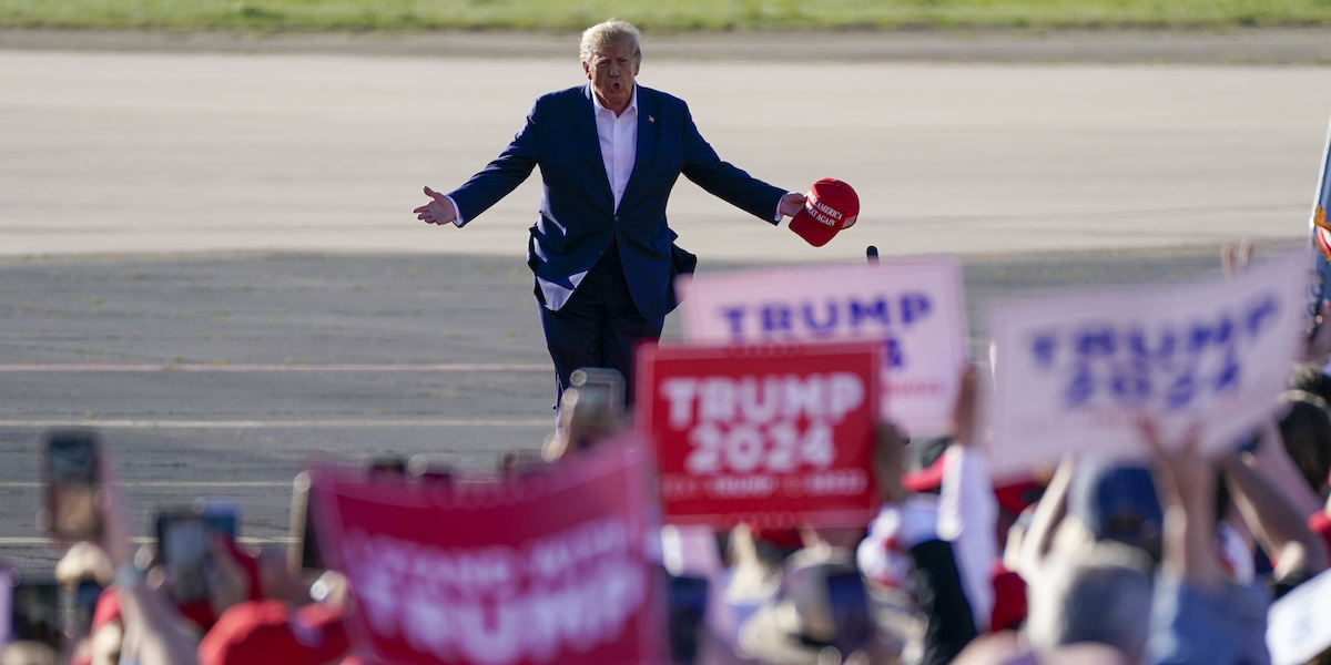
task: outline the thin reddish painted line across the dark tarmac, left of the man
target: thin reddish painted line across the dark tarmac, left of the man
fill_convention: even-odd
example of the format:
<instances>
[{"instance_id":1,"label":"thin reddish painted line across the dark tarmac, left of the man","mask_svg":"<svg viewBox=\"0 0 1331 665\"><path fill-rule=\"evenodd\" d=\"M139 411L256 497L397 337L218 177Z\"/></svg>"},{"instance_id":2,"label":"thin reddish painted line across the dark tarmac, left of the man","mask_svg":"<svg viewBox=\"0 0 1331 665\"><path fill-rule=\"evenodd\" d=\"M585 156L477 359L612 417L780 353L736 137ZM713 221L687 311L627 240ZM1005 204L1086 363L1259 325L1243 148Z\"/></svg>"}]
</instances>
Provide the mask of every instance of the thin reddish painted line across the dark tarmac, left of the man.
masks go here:
<instances>
[{"instance_id":1,"label":"thin reddish painted line across the dark tarmac, left of the man","mask_svg":"<svg viewBox=\"0 0 1331 665\"><path fill-rule=\"evenodd\" d=\"M435 364L230 364L230 363L11 363L0 372L544 372L551 364L435 363Z\"/></svg>"}]
</instances>

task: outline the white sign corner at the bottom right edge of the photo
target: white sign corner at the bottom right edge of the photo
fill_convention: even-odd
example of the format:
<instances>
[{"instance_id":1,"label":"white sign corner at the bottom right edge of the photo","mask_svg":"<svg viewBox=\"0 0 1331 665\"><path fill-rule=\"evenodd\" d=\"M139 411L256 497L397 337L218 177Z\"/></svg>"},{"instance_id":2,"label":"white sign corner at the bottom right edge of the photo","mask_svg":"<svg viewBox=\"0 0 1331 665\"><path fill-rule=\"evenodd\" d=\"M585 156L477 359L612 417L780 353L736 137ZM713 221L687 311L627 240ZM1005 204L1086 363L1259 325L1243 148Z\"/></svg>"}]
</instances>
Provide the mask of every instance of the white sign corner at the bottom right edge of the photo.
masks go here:
<instances>
[{"instance_id":1,"label":"white sign corner at the bottom right edge of the photo","mask_svg":"<svg viewBox=\"0 0 1331 665\"><path fill-rule=\"evenodd\" d=\"M1302 665L1331 649L1331 571L1298 585L1266 613L1271 665Z\"/></svg>"}]
</instances>

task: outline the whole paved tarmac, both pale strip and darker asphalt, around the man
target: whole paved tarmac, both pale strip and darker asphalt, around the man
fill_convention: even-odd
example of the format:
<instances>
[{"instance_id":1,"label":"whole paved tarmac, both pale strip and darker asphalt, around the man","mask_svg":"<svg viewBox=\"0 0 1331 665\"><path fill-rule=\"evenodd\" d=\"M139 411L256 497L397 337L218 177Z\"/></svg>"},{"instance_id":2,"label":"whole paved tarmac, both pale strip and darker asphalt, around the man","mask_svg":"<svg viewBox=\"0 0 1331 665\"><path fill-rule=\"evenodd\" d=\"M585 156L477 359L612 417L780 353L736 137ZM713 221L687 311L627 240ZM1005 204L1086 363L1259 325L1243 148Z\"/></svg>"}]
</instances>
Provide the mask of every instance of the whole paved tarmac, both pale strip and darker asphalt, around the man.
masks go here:
<instances>
[{"instance_id":1,"label":"whole paved tarmac, both pale strip and darker asphalt, around the man","mask_svg":"<svg viewBox=\"0 0 1331 665\"><path fill-rule=\"evenodd\" d=\"M0 559L55 560L35 525L49 427L104 435L141 536L156 508L233 496L242 535L270 544L314 456L453 451L480 468L550 432L522 257L535 178L467 229L409 211L422 185L496 154L535 94L576 85L571 55L15 39L0 35ZM791 189L845 180L864 214L815 251L681 182L672 226L701 271L864 261L870 243L885 261L954 253L978 355L994 298L1214 275L1223 241L1304 242L1331 110L1318 57L761 61L748 44L651 60L648 41L639 80L688 100L723 157Z\"/></svg>"}]
</instances>

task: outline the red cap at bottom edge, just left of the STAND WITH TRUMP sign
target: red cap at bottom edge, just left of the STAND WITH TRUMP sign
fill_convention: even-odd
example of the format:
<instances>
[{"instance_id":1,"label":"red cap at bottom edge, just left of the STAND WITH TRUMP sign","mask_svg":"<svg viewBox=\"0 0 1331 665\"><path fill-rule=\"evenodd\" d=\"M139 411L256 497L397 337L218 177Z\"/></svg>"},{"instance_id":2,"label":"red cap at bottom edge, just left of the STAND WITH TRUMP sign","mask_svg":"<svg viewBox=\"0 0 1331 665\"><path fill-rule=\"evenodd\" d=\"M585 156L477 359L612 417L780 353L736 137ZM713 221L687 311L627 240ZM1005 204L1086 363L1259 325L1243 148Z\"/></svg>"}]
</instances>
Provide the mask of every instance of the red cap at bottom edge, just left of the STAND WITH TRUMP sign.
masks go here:
<instances>
[{"instance_id":1,"label":"red cap at bottom edge, just left of the STAND WITH TRUMP sign","mask_svg":"<svg viewBox=\"0 0 1331 665\"><path fill-rule=\"evenodd\" d=\"M241 602L198 645L200 665L323 665L351 648L342 613L323 602L291 610L277 600Z\"/></svg>"}]
</instances>

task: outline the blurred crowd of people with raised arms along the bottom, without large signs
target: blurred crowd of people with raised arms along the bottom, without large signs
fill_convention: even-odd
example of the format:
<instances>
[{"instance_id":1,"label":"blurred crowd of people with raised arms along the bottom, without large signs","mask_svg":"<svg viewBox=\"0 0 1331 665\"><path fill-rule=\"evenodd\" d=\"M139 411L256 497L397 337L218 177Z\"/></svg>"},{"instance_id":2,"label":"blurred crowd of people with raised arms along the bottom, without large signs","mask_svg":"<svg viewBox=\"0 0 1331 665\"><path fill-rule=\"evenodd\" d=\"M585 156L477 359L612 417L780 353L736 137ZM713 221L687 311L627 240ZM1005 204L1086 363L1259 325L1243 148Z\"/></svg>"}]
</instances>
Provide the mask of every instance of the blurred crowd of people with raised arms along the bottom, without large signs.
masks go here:
<instances>
[{"instance_id":1,"label":"blurred crowd of people with raised arms along the bottom, without large signs","mask_svg":"<svg viewBox=\"0 0 1331 665\"><path fill-rule=\"evenodd\" d=\"M1319 323L1328 317L1324 306ZM948 436L880 426L882 507L861 529L666 527L671 660L1268 664L1268 608L1331 563L1328 352L1331 325L1319 325L1280 412L1218 458L1198 452L1195 431L1162 440L1143 422L1150 459L1069 456L1001 483L977 416L985 372L968 367ZM556 469L628 427L615 400L575 386L540 455L503 455L495 481ZM198 573L172 564L189 556L132 547L112 460L98 455L96 527L63 539L52 612L15 593L16 640L0 665L369 662L343 621L354 589L302 548L303 520L290 552L206 531L201 579L186 579ZM413 467L373 473L447 475ZM59 520L48 516L53 532ZM1331 664L1331 650L1308 662Z\"/></svg>"}]
</instances>

